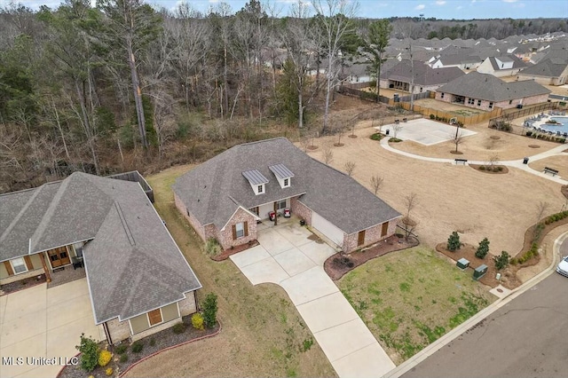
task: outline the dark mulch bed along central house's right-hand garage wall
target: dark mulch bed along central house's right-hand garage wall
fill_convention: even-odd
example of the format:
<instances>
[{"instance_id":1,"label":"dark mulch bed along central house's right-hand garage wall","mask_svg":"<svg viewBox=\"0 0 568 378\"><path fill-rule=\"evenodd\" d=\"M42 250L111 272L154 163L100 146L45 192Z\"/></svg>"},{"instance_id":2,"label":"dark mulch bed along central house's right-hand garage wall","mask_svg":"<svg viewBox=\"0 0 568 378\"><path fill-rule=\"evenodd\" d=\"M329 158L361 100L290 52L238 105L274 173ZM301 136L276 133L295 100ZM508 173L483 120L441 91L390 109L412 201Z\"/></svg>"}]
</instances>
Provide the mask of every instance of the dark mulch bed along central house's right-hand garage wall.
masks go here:
<instances>
[{"instance_id":1,"label":"dark mulch bed along central house's right-hand garage wall","mask_svg":"<svg viewBox=\"0 0 568 378\"><path fill-rule=\"evenodd\" d=\"M402 235L392 235L385 240L381 240L375 246L351 254L336 253L327 258L323 268L332 280L339 280L347 272L351 272L359 265L367 263L372 258L383 256L389 252L411 248L418 245L418 240L410 238L405 240Z\"/></svg>"}]
</instances>

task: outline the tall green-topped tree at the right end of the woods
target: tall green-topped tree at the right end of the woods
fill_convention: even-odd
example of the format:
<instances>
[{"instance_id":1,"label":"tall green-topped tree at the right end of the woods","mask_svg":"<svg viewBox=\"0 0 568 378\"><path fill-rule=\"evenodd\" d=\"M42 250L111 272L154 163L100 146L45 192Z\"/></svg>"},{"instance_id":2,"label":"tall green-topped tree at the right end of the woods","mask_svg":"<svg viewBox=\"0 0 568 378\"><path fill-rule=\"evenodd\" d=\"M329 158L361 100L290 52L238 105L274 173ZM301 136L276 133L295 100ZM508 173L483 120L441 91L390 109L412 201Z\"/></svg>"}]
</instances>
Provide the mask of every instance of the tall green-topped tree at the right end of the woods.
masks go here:
<instances>
[{"instance_id":1,"label":"tall green-topped tree at the right end of the woods","mask_svg":"<svg viewBox=\"0 0 568 378\"><path fill-rule=\"evenodd\" d=\"M371 75L375 76L376 102L379 102L381 67L386 60L383 54L389 45L390 32L392 26L389 20L377 20L368 26L367 35L363 35L362 38L364 55L370 62L369 70Z\"/></svg>"}]
</instances>

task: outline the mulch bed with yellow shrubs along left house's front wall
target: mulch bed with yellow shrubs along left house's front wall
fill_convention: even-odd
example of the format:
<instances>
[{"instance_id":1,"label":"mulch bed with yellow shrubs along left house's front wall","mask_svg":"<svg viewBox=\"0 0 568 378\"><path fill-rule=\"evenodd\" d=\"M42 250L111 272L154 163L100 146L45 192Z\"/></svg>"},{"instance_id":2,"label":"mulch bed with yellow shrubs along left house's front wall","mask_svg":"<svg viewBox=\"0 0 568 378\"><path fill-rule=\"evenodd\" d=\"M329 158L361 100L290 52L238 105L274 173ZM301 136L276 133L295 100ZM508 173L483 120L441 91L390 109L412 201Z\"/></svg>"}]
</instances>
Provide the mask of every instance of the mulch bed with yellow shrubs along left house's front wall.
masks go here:
<instances>
[{"instance_id":1,"label":"mulch bed with yellow shrubs along left house's front wall","mask_svg":"<svg viewBox=\"0 0 568 378\"><path fill-rule=\"evenodd\" d=\"M128 348L122 355L128 356L128 359L125 362L120 362L120 358L122 355L116 353L116 348L119 346L110 346L108 350L113 353L113 359L111 362L105 366L97 366L95 370L91 373L85 372L81 365L69 365L65 366L58 374L58 377L62 378L84 378L85 376L93 376L95 378L103 378L106 377L105 369L108 367L112 367L114 370L113 376L118 376L117 373L123 374L129 366L133 365L134 363L138 362L141 359L147 358L156 352L160 352L163 350L170 349L180 344L190 343L194 340L201 339L207 336L214 336L217 335L220 331L220 324L217 322L217 327L211 329L204 329L198 330L192 327L192 316L187 315L183 318L185 324L185 331L181 334L174 334L171 328L164 329L154 335L150 335L141 339L140 341L144 343L144 348L138 352L134 353L130 348L130 343L122 342L121 345L128 345ZM77 344L79 343L79 338L77 337ZM80 355L79 355L80 357Z\"/></svg>"}]
</instances>

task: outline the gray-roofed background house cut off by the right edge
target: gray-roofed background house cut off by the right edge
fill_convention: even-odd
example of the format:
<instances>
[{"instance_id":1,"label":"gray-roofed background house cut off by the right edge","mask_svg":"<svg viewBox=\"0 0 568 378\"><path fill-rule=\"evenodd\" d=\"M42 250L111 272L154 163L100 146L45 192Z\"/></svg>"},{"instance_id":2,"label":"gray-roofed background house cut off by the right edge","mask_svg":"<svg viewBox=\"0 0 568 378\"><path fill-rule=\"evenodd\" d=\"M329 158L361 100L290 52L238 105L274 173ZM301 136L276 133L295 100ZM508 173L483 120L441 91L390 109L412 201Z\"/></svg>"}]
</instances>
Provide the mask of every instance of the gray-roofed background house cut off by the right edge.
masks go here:
<instances>
[{"instance_id":1,"label":"gray-roofed background house cut off by the right edge","mask_svg":"<svg viewBox=\"0 0 568 378\"><path fill-rule=\"evenodd\" d=\"M568 83L568 50L550 51L537 64L518 73L519 80L533 80L542 85Z\"/></svg>"}]
</instances>

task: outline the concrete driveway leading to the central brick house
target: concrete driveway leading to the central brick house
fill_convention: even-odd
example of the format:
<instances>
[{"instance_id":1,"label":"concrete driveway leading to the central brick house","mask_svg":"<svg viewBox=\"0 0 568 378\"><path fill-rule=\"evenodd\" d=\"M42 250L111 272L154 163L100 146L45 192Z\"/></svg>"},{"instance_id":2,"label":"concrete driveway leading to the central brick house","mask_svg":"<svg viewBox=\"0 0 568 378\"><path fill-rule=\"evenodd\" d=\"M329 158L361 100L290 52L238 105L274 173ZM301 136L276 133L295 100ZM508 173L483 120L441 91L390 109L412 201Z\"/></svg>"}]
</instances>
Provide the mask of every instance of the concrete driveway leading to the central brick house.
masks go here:
<instances>
[{"instance_id":1,"label":"concrete driveway leading to the central brick house","mask_svg":"<svg viewBox=\"0 0 568 378\"><path fill-rule=\"evenodd\" d=\"M259 246L231 256L248 280L283 287L340 377L376 377L394 368L323 269L334 248L294 223L259 231Z\"/></svg>"}]
</instances>

